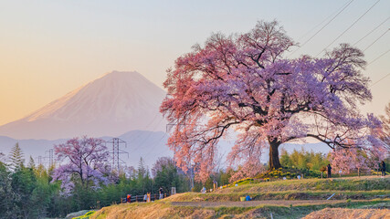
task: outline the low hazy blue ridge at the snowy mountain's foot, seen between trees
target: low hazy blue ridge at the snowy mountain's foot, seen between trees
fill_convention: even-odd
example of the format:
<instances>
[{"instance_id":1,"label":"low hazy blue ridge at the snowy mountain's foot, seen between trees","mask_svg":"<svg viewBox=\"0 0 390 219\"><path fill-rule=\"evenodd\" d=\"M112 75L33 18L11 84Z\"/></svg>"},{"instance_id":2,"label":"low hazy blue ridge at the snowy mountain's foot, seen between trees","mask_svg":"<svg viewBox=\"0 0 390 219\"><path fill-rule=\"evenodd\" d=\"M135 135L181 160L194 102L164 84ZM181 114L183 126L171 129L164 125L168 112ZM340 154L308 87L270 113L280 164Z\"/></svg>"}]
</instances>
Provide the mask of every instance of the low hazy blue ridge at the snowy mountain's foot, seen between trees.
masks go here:
<instances>
[{"instance_id":1,"label":"low hazy blue ridge at the snowy mountain's foot, seen between trees","mask_svg":"<svg viewBox=\"0 0 390 219\"><path fill-rule=\"evenodd\" d=\"M143 161L149 168L152 168L153 163L159 157L169 156L173 157L174 152L169 150L166 145L166 141L168 140L169 134L163 131L148 131L148 130L132 130L128 131L120 136L116 136L116 138L120 138L122 141L126 141L127 147L121 145L121 150L127 151L129 153L129 157L126 154L121 154L121 160L125 162L127 166L137 167L140 158L142 157ZM113 137L111 136L103 136L100 139L104 141L110 141ZM33 157L33 159L37 162L37 157L47 157L47 151L52 149L55 144L65 143L67 139L58 139L58 140L15 140L9 137L0 136L0 152L5 153L8 156L11 148L19 143L20 148L25 154L25 160L28 162L29 156ZM218 151L220 154L223 154L223 161L227 164L226 156L227 153L231 150L234 142L232 141L221 141L218 145ZM109 151L112 151L112 146L110 144L106 144ZM293 150L300 151L303 148L305 151L316 151L327 153L330 151L330 148L321 143L307 143L307 144L293 144L286 143L282 144L281 148L286 149L289 152ZM281 148L279 150L281 150ZM261 162L267 163L269 161L269 156L267 152L264 152L261 156ZM44 160L44 162L48 162L48 160ZM225 166L226 167L226 166Z\"/></svg>"}]
</instances>

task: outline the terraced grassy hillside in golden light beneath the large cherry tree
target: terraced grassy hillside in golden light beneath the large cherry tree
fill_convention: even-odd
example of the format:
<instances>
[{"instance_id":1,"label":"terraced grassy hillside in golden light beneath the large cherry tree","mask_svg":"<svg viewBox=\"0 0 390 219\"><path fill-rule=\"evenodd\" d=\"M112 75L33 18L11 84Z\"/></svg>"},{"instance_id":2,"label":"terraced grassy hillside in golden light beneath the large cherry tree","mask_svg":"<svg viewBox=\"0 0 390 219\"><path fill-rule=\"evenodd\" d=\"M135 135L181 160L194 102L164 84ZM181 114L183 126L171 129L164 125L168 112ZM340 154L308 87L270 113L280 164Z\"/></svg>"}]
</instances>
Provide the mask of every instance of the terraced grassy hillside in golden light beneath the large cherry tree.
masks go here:
<instances>
[{"instance_id":1,"label":"terraced grassy hillside in golden light beneath the large cherry tree","mask_svg":"<svg viewBox=\"0 0 390 219\"><path fill-rule=\"evenodd\" d=\"M239 197L246 195L253 201L239 202ZM383 209L377 213L390 216L390 177L241 183L214 193L180 193L154 203L115 204L90 218L301 218L315 215L315 211L356 214L348 209L365 209L370 215Z\"/></svg>"}]
</instances>

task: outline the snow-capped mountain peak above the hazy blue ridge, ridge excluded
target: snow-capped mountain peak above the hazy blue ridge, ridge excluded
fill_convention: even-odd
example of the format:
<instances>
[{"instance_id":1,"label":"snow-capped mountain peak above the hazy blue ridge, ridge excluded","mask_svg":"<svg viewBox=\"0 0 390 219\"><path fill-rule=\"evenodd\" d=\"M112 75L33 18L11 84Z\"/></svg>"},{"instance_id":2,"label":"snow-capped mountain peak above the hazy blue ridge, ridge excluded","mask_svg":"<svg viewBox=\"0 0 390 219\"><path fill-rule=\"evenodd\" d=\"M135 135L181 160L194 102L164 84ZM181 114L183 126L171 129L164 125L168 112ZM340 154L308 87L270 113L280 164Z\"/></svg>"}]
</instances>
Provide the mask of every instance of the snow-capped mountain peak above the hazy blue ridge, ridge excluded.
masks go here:
<instances>
[{"instance_id":1,"label":"snow-capped mountain peak above the hazy blue ridge, ridge excluded","mask_svg":"<svg viewBox=\"0 0 390 219\"><path fill-rule=\"evenodd\" d=\"M14 139L119 136L131 130L165 131L159 107L165 91L138 72L112 71L21 120L0 127Z\"/></svg>"}]
</instances>

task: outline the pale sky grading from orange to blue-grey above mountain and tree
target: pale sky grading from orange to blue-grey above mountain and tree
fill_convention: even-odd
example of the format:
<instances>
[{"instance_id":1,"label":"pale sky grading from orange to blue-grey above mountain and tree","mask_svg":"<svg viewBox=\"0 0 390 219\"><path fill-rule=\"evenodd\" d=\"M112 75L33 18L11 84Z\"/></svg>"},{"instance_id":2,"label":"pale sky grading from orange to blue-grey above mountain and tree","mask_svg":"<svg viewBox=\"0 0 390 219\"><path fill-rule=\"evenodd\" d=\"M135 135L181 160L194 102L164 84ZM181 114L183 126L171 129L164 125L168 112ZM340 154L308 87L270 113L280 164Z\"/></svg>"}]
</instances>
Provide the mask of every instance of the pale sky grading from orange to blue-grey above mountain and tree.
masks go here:
<instances>
[{"instance_id":1,"label":"pale sky grading from orange to blue-grey above mountain and tree","mask_svg":"<svg viewBox=\"0 0 390 219\"><path fill-rule=\"evenodd\" d=\"M175 58L212 32L247 32L276 19L303 44L350 1L0 1L0 125L112 70L136 70L162 87ZM354 0L291 57L316 56L357 20L330 48L385 22L356 44L368 47L370 63L390 49L389 16L388 0ZM364 71L373 83L389 73L390 52ZM383 114L390 76L371 89L373 102L362 110Z\"/></svg>"}]
</instances>

